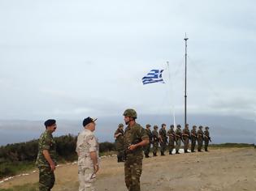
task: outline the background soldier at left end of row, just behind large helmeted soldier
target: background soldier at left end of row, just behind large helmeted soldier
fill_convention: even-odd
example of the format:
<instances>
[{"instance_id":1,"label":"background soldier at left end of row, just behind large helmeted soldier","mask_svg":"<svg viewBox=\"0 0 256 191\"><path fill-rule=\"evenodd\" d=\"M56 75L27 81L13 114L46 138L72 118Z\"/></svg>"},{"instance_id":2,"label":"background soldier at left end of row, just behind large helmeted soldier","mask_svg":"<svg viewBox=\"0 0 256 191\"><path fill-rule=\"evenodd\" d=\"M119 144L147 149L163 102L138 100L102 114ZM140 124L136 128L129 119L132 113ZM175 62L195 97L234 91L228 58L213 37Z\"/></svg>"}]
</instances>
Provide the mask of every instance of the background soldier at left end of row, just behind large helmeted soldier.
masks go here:
<instances>
[{"instance_id":1,"label":"background soldier at left end of row, just behind large helmeted soldier","mask_svg":"<svg viewBox=\"0 0 256 191\"><path fill-rule=\"evenodd\" d=\"M117 151L117 162L124 162L124 125L120 123L115 134L115 149Z\"/></svg>"}]
</instances>

